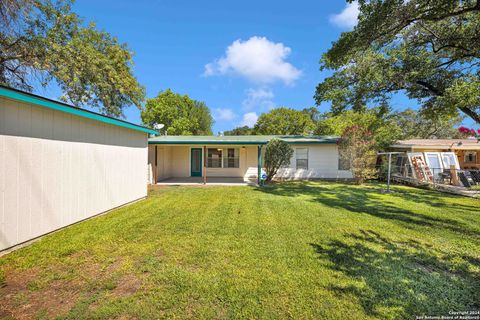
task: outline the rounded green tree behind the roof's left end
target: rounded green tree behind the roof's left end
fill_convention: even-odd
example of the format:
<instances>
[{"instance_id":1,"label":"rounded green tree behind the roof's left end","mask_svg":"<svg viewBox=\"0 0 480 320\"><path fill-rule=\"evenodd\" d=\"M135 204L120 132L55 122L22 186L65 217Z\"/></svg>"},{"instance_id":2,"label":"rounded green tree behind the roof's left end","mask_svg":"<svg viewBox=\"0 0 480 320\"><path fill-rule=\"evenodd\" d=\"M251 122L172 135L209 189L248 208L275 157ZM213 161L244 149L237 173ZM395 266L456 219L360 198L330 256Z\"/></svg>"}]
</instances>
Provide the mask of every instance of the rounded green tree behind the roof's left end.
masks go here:
<instances>
[{"instance_id":1,"label":"rounded green tree behind the roof's left end","mask_svg":"<svg viewBox=\"0 0 480 320\"><path fill-rule=\"evenodd\" d=\"M168 89L147 99L141 112L145 125L164 124L169 135L211 135L213 118L204 102Z\"/></svg>"}]
</instances>

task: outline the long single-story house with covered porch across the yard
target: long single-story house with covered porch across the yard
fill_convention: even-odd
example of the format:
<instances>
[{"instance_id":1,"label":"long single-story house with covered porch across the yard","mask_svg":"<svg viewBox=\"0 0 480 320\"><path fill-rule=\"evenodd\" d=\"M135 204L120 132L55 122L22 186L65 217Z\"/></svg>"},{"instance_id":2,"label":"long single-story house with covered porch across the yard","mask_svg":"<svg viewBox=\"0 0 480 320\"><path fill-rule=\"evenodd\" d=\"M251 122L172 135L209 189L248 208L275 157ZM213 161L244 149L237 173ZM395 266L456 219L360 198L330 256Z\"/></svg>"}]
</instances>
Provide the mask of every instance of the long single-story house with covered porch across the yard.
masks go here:
<instances>
[{"instance_id":1,"label":"long single-story house with covered porch across the yard","mask_svg":"<svg viewBox=\"0 0 480 320\"><path fill-rule=\"evenodd\" d=\"M264 146L273 138L288 142L294 150L290 166L280 169L275 179L352 177L339 164L336 137L157 136L148 140L151 182L188 177L258 181Z\"/></svg>"}]
</instances>

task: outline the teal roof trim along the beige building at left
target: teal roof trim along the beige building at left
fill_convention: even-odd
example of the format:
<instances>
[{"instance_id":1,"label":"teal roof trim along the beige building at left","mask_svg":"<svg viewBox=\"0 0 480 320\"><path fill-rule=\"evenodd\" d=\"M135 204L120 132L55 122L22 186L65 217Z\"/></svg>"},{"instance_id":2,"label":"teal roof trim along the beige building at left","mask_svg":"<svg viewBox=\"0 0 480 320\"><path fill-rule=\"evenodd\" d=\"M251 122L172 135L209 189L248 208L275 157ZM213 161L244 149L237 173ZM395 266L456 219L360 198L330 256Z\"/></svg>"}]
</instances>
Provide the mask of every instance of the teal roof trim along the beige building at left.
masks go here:
<instances>
[{"instance_id":1,"label":"teal roof trim along the beige building at left","mask_svg":"<svg viewBox=\"0 0 480 320\"><path fill-rule=\"evenodd\" d=\"M47 99L41 96L37 96L31 93L23 92L20 90L0 86L0 96L9 98L9 99L14 99L22 102L27 102L27 103L32 103L38 106L46 107L49 109L53 109L56 111L61 111L69 114L73 114L79 117L87 118L87 119L92 119L108 124L112 124L115 126L123 127L123 128L128 128L132 130L137 130L137 131L142 131L146 133L151 133L151 134L159 134L157 131L142 127L137 124L133 124L127 121L111 118L96 112L92 112L89 110L77 108L75 106L68 105L66 103L62 103L59 101Z\"/></svg>"}]
</instances>

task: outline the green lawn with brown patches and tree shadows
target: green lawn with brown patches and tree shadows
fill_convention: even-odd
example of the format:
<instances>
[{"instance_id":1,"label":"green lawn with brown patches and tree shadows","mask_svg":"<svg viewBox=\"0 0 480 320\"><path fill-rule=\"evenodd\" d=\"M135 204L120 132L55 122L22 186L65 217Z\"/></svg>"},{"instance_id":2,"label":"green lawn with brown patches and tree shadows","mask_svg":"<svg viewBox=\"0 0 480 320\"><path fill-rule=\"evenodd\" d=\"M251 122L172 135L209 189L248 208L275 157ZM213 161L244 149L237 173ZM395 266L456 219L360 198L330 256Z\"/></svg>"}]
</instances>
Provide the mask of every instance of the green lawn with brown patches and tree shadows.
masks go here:
<instances>
[{"instance_id":1,"label":"green lawn with brown patches and tree shadows","mask_svg":"<svg viewBox=\"0 0 480 320\"><path fill-rule=\"evenodd\" d=\"M480 201L171 187L0 258L0 317L413 319L480 309Z\"/></svg>"}]
</instances>

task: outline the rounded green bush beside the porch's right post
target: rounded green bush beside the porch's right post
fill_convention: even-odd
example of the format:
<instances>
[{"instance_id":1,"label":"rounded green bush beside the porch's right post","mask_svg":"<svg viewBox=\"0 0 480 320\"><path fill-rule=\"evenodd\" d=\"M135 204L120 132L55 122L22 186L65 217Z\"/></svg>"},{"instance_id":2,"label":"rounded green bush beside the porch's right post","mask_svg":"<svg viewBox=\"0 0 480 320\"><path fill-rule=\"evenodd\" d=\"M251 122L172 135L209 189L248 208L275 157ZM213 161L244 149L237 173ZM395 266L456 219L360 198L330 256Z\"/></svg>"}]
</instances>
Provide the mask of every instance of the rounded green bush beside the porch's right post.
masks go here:
<instances>
[{"instance_id":1,"label":"rounded green bush beside the porch's right post","mask_svg":"<svg viewBox=\"0 0 480 320\"><path fill-rule=\"evenodd\" d=\"M293 156L293 149L290 145L280 139L272 139L265 146L265 171L267 174L266 181L269 182L277 174L278 169L290 164Z\"/></svg>"}]
</instances>

